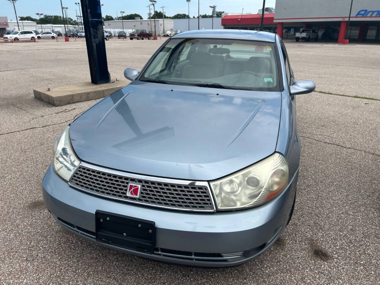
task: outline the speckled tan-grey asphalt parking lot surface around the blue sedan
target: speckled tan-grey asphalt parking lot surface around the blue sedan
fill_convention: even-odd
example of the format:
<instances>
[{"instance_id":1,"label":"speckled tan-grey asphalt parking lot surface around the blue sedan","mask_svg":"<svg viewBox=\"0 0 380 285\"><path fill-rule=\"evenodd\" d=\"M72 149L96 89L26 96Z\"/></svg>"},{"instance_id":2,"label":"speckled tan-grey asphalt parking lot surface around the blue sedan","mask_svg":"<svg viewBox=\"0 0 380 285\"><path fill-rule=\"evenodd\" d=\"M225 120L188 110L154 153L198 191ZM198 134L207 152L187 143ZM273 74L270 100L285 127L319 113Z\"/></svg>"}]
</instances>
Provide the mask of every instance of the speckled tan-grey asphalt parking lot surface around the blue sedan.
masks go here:
<instances>
[{"instance_id":1,"label":"speckled tan-grey asphalt parking lot surface around the blue sedan","mask_svg":"<svg viewBox=\"0 0 380 285\"><path fill-rule=\"evenodd\" d=\"M107 41L111 77L141 68L163 41ZM196 269L112 251L60 228L41 181L56 136L97 100L54 107L32 89L89 81L86 43L0 43L0 283L379 284L380 48L285 45L296 79L317 85L297 97L302 153L293 218L254 260Z\"/></svg>"}]
</instances>

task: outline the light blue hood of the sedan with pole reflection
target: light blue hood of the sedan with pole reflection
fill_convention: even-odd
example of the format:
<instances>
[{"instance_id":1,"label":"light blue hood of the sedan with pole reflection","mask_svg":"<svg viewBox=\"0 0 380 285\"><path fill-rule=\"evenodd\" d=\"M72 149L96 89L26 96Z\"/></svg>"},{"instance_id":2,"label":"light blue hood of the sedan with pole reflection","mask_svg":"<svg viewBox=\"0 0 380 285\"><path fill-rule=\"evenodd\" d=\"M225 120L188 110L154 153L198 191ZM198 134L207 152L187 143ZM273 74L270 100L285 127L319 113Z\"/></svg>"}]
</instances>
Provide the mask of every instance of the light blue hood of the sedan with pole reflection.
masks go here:
<instances>
[{"instance_id":1,"label":"light blue hood of the sedan with pole reflection","mask_svg":"<svg viewBox=\"0 0 380 285\"><path fill-rule=\"evenodd\" d=\"M134 81L74 120L74 152L131 173L213 180L275 151L281 93Z\"/></svg>"}]
</instances>

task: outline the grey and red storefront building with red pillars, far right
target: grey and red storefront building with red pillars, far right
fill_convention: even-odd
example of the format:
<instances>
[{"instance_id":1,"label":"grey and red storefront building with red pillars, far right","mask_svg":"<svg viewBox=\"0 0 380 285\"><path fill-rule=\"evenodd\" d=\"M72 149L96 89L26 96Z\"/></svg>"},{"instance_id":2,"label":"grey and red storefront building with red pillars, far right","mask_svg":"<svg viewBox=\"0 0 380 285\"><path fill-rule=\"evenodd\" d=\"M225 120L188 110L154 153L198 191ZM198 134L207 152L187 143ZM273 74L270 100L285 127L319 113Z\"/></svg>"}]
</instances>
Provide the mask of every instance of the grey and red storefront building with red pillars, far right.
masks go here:
<instances>
[{"instance_id":1,"label":"grey and red storefront building with red pillars, far right","mask_svg":"<svg viewBox=\"0 0 380 285\"><path fill-rule=\"evenodd\" d=\"M379 41L380 1L353 1L347 28L350 5L351 0L279 0L274 13L265 8L263 30L277 32L283 39L294 39L300 29L312 28L322 40ZM222 15L223 28L258 30L260 23L260 13Z\"/></svg>"}]
</instances>

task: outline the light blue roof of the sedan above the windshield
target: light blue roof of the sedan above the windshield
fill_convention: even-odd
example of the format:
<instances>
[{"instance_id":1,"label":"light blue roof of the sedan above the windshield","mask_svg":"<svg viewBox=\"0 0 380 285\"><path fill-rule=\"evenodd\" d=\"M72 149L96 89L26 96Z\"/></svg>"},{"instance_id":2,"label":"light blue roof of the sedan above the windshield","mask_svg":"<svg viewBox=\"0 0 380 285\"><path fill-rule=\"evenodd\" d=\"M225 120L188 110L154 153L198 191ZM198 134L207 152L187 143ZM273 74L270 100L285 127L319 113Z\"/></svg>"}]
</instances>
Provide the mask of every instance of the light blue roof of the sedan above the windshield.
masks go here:
<instances>
[{"instance_id":1,"label":"light blue roof of the sedan above the windshield","mask_svg":"<svg viewBox=\"0 0 380 285\"><path fill-rule=\"evenodd\" d=\"M215 38L215 39L236 39L250 41L267 41L274 43L275 33L250 31L250 30L191 30L172 36L172 38Z\"/></svg>"}]
</instances>

